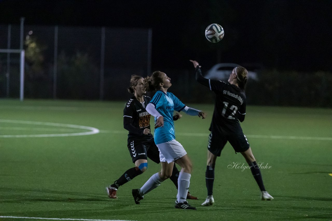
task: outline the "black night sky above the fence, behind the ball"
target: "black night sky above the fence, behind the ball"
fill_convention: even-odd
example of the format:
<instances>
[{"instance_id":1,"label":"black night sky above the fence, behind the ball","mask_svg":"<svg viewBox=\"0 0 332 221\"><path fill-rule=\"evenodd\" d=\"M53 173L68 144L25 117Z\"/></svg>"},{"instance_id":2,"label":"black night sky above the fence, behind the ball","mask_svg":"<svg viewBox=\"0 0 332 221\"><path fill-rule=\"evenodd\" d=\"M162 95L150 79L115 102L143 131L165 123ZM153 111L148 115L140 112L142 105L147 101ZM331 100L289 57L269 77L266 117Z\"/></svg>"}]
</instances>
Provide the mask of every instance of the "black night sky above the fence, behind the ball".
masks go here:
<instances>
[{"instance_id":1,"label":"black night sky above the fence, behind the ball","mask_svg":"<svg viewBox=\"0 0 332 221\"><path fill-rule=\"evenodd\" d=\"M331 0L0 0L0 24L152 28L153 69L196 59L330 71L331 11ZM225 30L216 44L204 36L211 23Z\"/></svg>"}]
</instances>

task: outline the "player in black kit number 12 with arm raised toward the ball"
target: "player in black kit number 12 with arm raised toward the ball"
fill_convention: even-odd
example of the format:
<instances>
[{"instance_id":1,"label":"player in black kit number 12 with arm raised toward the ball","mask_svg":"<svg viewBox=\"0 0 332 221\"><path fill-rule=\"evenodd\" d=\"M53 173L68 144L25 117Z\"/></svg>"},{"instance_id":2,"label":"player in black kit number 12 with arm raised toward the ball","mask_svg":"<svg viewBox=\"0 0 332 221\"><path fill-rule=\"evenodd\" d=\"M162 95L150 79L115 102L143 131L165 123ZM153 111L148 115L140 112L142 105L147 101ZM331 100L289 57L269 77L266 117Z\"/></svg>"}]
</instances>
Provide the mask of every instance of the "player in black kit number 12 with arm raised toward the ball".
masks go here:
<instances>
[{"instance_id":1,"label":"player in black kit number 12 with arm raised toward the ball","mask_svg":"<svg viewBox=\"0 0 332 221\"><path fill-rule=\"evenodd\" d=\"M221 150L227 141L232 145L235 153L240 152L249 164L252 175L261 190L261 199L272 200L273 197L265 190L259 165L256 163L248 139L243 134L240 125L246 114L246 95L244 91L248 81L248 71L243 67L234 68L229 76L228 83L225 83L204 78L198 62L190 61L194 64L197 82L207 86L216 95L207 145L207 169L205 173L207 198L202 206L214 204L212 190L215 161L220 156Z\"/></svg>"}]
</instances>

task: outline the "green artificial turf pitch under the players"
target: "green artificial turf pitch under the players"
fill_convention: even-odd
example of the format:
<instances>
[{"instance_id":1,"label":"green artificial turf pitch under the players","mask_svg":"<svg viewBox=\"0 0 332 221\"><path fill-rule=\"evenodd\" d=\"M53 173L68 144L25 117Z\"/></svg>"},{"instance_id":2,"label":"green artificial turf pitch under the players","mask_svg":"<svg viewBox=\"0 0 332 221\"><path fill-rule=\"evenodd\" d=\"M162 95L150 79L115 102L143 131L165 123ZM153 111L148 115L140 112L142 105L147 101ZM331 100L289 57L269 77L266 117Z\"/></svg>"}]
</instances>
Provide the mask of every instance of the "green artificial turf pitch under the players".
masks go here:
<instances>
[{"instance_id":1,"label":"green artificial turf pitch under the players","mask_svg":"<svg viewBox=\"0 0 332 221\"><path fill-rule=\"evenodd\" d=\"M118 199L108 198L105 187L133 167L123 128L125 102L0 100L0 216L7 217L0 220L27 220L9 216L147 221L331 220L331 109L248 106L241 123L243 132L257 162L267 166L261 168L262 176L275 199L260 200L250 169L228 168L246 163L226 144L215 167L215 204L205 207L200 204L207 194L207 138L213 105L188 104L208 114L202 120L183 113L175 122L176 139L194 165L189 191L199 197L189 200L197 210L188 211L174 208L177 192L170 180L146 194L140 205L134 203L131 189L140 188L160 170L160 165L151 160L146 172L119 188ZM100 133L6 137L88 131L68 125L93 127Z\"/></svg>"}]
</instances>

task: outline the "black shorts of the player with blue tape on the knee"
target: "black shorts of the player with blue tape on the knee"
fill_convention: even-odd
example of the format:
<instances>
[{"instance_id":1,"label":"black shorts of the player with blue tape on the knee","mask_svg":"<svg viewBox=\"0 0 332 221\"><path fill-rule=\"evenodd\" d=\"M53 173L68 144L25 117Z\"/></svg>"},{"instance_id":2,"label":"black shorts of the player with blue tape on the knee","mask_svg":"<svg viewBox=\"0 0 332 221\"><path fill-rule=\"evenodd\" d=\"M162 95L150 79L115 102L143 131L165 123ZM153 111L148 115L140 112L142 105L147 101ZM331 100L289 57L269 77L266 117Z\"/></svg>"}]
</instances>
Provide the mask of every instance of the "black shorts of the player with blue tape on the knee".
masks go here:
<instances>
[{"instance_id":1,"label":"black shorts of the player with blue tape on the knee","mask_svg":"<svg viewBox=\"0 0 332 221\"><path fill-rule=\"evenodd\" d=\"M159 149L153 139L151 141L128 139L127 145L133 163L138 159L147 160L147 158L160 163Z\"/></svg>"}]
</instances>

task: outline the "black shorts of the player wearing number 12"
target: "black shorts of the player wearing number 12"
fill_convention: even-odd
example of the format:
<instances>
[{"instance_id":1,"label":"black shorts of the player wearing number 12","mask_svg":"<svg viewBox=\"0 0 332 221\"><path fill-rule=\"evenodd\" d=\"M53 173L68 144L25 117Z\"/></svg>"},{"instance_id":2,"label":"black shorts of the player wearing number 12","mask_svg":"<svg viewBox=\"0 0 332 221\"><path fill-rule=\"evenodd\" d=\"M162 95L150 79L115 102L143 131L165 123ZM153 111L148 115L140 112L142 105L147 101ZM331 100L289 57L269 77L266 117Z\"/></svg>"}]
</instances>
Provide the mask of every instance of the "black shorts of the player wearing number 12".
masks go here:
<instances>
[{"instance_id":1,"label":"black shorts of the player wearing number 12","mask_svg":"<svg viewBox=\"0 0 332 221\"><path fill-rule=\"evenodd\" d=\"M235 152L244 152L250 147L248 139L243 133L224 135L210 132L207 149L214 155L220 156L221 150L224 148L227 141L232 145Z\"/></svg>"}]
</instances>

